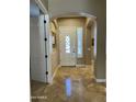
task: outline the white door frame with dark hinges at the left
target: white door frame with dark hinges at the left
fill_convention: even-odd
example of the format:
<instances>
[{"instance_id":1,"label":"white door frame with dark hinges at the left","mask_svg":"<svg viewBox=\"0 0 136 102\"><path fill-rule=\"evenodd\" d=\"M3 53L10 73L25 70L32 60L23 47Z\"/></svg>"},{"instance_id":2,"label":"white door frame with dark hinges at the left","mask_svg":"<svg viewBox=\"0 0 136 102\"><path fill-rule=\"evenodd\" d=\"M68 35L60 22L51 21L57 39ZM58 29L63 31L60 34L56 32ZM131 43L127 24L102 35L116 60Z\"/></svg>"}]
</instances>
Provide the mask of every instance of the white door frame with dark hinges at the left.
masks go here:
<instances>
[{"instance_id":1,"label":"white door frame with dark hinges at the left","mask_svg":"<svg viewBox=\"0 0 136 102\"><path fill-rule=\"evenodd\" d=\"M52 83L52 56L50 56L50 38L49 38L49 14L47 8L43 4L42 0L34 0L38 7L38 9L44 13L44 20L41 19L39 22L44 23L44 41L45 41L45 82ZM41 31L42 32L42 31ZM43 33L42 33L43 34Z\"/></svg>"}]
</instances>

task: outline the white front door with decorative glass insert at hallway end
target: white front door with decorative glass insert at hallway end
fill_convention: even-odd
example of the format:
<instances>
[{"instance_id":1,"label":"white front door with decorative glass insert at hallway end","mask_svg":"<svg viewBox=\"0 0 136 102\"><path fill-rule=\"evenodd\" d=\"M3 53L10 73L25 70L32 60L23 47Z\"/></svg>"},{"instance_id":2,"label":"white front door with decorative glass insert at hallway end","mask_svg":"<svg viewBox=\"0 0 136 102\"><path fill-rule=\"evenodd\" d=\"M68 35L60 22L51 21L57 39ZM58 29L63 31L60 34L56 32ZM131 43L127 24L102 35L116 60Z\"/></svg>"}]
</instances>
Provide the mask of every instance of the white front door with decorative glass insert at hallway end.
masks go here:
<instances>
[{"instance_id":1,"label":"white front door with decorative glass insert at hallway end","mask_svg":"<svg viewBox=\"0 0 136 102\"><path fill-rule=\"evenodd\" d=\"M76 66L76 26L59 27L59 53L61 66Z\"/></svg>"}]
</instances>

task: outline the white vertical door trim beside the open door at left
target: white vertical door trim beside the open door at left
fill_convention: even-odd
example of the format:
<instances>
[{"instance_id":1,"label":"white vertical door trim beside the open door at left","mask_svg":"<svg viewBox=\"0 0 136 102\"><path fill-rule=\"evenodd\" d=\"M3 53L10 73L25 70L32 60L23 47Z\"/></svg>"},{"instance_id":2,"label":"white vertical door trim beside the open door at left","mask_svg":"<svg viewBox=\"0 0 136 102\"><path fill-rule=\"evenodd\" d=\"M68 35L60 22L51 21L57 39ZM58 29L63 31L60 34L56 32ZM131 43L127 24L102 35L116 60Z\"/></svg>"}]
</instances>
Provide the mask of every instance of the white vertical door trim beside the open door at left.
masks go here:
<instances>
[{"instance_id":1,"label":"white vertical door trim beside the open door at left","mask_svg":"<svg viewBox=\"0 0 136 102\"><path fill-rule=\"evenodd\" d=\"M48 83L52 83L52 55L50 55L50 39L49 39L49 14L48 14L48 11L47 11L47 8L43 4L42 0L35 0L37 7L41 9L41 11L44 13L44 20L46 21L45 24L45 37L47 38L46 43L45 43L45 49L46 49L46 54L47 55L47 61L46 61L46 71L48 72L47 75L47 79L46 79L46 82ZM43 21L44 22L44 21ZM44 38L43 38L44 39ZM44 56L45 57L45 56ZM45 76L46 76L46 72L45 72Z\"/></svg>"}]
</instances>

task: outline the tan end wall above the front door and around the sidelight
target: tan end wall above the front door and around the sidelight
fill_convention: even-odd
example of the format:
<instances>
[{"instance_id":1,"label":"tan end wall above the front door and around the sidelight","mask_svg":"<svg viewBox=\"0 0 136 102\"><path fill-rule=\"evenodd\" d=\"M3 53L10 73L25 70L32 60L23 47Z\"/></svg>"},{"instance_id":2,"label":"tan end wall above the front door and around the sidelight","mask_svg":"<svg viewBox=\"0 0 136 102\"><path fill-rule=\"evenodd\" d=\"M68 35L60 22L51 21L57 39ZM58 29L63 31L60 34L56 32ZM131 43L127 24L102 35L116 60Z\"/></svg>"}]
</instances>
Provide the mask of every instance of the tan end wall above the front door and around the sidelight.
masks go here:
<instances>
[{"instance_id":1,"label":"tan end wall above the front door and around the sidelight","mask_svg":"<svg viewBox=\"0 0 136 102\"><path fill-rule=\"evenodd\" d=\"M84 33L84 24L86 24L86 19L84 18L72 18L72 19L58 19L58 25L59 26L77 26L77 27L83 27L83 33ZM84 41L84 34L83 34L83 41ZM83 42L84 45L84 42ZM84 53L84 46L83 46L83 57L82 58L77 58L77 64L82 65L84 64L84 58L86 58L86 53Z\"/></svg>"}]
</instances>

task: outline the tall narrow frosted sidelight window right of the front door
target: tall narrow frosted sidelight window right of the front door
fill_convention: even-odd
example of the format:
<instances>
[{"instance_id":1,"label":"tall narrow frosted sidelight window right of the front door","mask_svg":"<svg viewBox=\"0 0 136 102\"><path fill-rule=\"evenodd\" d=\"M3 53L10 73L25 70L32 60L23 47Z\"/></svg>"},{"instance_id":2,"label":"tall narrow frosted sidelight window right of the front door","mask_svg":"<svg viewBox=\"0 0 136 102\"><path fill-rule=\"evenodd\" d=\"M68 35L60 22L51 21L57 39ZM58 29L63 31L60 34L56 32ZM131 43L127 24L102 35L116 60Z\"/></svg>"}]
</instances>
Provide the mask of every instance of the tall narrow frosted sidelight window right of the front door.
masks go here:
<instances>
[{"instance_id":1,"label":"tall narrow frosted sidelight window right of the front door","mask_svg":"<svg viewBox=\"0 0 136 102\"><path fill-rule=\"evenodd\" d=\"M83 39L83 32L82 27L77 27L77 39L78 39L78 54L77 57L82 57L82 39Z\"/></svg>"}]
</instances>

